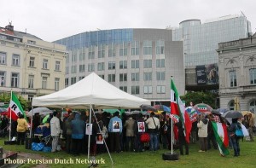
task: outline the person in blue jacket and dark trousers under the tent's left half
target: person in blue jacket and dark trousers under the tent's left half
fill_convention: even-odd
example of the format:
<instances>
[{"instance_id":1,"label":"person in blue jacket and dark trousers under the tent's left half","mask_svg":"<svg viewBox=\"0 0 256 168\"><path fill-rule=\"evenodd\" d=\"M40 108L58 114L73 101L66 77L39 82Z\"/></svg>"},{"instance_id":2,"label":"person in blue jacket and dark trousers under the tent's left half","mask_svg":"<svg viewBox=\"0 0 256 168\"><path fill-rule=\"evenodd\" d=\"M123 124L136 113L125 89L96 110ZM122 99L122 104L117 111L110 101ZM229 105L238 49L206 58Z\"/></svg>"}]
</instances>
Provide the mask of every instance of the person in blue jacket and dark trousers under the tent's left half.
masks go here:
<instances>
[{"instance_id":1,"label":"person in blue jacket and dark trousers under the tent's left half","mask_svg":"<svg viewBox=\"0 0 256 168\"><path fill-rule=\"evenodd\" d=\"M79 154L82 148L84 138L85 122L81 119L80 114L75 114L75 119L71 121L73 154Z\"/></svg>"}]
</instances>

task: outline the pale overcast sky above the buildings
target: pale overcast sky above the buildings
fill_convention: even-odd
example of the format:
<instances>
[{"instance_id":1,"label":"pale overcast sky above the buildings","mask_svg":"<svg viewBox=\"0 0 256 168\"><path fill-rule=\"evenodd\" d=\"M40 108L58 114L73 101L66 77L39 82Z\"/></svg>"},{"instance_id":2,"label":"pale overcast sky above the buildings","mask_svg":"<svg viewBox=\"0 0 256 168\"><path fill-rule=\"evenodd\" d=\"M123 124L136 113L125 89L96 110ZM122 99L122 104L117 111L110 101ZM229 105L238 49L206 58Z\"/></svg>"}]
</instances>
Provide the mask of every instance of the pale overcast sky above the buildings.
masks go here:
<instances>
[{"instance_id":1,"label":"pale overcast sky above the buildings","mask_svg":"<svg viewBox=\"0 0 256 168\"><path fill-rule=\"evenodd\" d=\"M51 42L97 29L177 27L242 12L255 32L255 6L255 0L7 0L0 26L11 21L16 31Z\"/></svg>"}]
</instances>

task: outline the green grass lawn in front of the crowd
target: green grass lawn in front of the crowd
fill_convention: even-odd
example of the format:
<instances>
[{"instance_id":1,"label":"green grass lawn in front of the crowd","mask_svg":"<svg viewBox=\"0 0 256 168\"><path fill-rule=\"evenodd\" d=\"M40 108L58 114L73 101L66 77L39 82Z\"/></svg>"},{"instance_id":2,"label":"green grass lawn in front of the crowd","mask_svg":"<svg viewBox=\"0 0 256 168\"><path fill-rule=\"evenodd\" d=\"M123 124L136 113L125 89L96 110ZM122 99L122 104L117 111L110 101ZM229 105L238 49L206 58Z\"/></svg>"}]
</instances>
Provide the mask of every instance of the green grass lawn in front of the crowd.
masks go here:
<instances>
[{"instance_id":1,"label":"green grass lawn in front of the crowd","mask_svg":"<svg viewBox=\"0 0 256 168\"><path fill-rule=\"evenodd\" d=\"M17 152L25 152L31 154L41 154L46 159L86 159L87 155L79 155L73 157L65 152L59 153L43 153L34 152L32 150L25 149L24 146L16 145L3 145L3 139L0 139L0 146L3 146L4 150L12 150ZM159 150L157 152L143 152L143 153L126 153L112 154L113 167L115 168L141 168L141 167L256 167L256 142L240 142L241 156L233 157L233 149L230 149L230 155L226 157L220 156L218 150L211 149L206 153L198 153L198 144L189 145L189 155L180 156L177 161L165 161L162 159L162 154L170 152L168 150ZM178 152L178 151L177 151ZM96 159L104 159L105 164L98 167L111 167L111 160L108 154L97 155ZM22 165L21 167L32 167L34 165ZM69 167L74 165L48 165L48 167ZM76 164L75 167L86 167L84 164Z\"/></svg>"}]
</instances>

